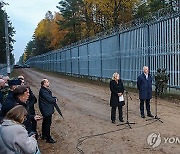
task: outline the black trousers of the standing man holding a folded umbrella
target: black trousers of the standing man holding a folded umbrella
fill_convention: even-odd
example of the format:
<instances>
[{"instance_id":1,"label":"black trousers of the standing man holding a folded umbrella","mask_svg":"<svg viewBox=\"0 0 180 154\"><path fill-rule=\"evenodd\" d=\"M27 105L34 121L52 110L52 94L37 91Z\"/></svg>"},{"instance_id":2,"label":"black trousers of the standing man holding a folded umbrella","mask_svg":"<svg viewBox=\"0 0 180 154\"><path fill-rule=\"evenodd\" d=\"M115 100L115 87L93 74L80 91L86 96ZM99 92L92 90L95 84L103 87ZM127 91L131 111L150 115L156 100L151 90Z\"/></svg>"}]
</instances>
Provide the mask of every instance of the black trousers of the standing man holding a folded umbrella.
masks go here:
<instances>
[{"instance_id":1,"label":"black trousers of the standing man holding a folded umbrella","mask_svg":"<svg viewBox=\"0 0 180 154\"><path fill-rule=\"evenodd\" d=\"M51 138L51 134L50 134L51 123L52 123L52 115L43 117L42 136L46 137L47 140Z\"/></svg>"}]
</instances>

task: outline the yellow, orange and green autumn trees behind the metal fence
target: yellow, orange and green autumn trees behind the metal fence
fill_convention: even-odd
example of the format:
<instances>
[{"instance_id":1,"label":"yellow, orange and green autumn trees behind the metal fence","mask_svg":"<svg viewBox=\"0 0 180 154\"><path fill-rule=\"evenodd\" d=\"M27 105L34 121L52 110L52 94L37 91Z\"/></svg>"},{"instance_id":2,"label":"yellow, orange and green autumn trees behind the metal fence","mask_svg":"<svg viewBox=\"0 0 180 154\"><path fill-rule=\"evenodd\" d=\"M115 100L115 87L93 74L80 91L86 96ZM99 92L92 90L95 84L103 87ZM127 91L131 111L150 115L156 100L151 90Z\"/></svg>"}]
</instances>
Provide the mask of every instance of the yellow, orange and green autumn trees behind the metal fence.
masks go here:
<instances>
[{"instance_id":1,"label":"yellow, orange and green autumn trees behind the metal fence","mask_svg":"<svg viewBox=\"0 0 180 154\"><path fill-rule=\"evenodd\" d=\"M59 12L48 11L35 29L32 40L21 57L59 49L99 32L119 28L136 18L150 16L165 7L179 5L179 0L60 0Z\"/></svg>"}]
</instances>

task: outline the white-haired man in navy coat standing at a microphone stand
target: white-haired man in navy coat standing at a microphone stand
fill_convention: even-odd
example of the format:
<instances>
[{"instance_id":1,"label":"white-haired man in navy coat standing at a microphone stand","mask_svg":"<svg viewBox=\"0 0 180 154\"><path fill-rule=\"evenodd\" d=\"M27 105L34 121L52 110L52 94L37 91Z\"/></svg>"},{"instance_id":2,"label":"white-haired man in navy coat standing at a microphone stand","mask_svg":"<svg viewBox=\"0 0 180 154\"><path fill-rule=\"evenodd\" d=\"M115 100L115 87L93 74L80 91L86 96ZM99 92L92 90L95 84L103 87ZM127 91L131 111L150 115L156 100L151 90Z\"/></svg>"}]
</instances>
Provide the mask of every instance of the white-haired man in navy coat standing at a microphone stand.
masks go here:
<instances>
[{"instance_id":1,"label":"white-haired man in navy coat standing at a microphone stand","mask_svg":"<svg viewBox=\"0 0 180 154\"><path fill-rule=\"evenodd\" d=\"M144 102L146 102L147 116L153 117L150 111L150 99L152 98L152 77L149 74L147 66L143 67L143 73L137 78L137 87L139 90L141 117L145 118Z\"/></svg>"}]
</instances>

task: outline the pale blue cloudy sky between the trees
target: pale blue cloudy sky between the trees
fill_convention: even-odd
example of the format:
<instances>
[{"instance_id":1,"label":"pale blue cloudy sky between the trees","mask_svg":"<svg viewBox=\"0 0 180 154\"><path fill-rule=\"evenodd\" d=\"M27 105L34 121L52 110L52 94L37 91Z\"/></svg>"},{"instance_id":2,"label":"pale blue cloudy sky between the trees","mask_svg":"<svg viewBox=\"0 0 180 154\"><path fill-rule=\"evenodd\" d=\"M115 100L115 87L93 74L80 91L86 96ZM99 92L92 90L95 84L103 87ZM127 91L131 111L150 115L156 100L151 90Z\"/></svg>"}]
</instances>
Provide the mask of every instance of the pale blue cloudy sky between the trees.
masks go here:
<instances>
[{"instance_id":1,"label":"pale blue cloudy sky between the trees","mask_svg":"<svg viewBox=\"0 0 180 154\"><path fill-rule=\"evenodd\" d=\"M56 6L60 0L4 0L4 2L9 4L4 8L16 31L13 53L17 62L31 40L37 24L48 10L53 13L58 11Z\"/></svg>"}]
</instances>

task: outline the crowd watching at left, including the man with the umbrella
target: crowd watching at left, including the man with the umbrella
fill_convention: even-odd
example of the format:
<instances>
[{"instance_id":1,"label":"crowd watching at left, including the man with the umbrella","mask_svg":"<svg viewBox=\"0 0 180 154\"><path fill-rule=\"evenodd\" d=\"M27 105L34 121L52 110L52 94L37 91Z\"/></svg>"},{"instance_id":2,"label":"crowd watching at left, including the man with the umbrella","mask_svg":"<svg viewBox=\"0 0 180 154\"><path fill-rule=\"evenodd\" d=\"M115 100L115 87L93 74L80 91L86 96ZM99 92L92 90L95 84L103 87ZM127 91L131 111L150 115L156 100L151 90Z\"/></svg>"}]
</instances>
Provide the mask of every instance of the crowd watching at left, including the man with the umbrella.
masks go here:
<instances>
[{"instance_id":1,"label":"crowd watching at left, including the man with the umbrella","mask_svg":"<svg viewBox=\"0 0 180 154\"><path fill-rule=\"evenodd\" d=\"M48 89L47 79L41 81L39 106L42 116L36 114L37 98L25 84L24 76L9 79L0 75L0 153L40 153L37 140L56 141L50 135L51 119L57 99ZM37 121L42 122L42 135L37 133Z\"/></svg>"}]
</instances>

